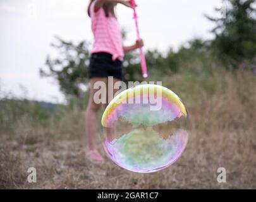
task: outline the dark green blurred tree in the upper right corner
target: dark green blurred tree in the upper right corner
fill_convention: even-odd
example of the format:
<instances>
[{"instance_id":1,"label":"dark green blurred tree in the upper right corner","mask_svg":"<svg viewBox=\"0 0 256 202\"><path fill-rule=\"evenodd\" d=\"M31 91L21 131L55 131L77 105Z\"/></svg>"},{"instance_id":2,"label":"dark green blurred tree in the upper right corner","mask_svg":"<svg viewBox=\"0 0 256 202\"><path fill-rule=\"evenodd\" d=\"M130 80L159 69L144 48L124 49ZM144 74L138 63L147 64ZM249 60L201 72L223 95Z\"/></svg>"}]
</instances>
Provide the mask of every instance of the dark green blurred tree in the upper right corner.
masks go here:
<instances>
[{"instance_id":1,"label":"dark green blurred tree in the upper right corner","mask_svg":"<svg viewBox=\"0 0 256 202\"><path fill-rule=\"evenodd\" d=\"M244 61L252 61L256 56L256 16L255 0L227 0L226 16L207 18L216 23L212 32L212 50L229 68L238 68ZM216 8L222 12L223 8ZM228 65L229 64L229 65Z\"/></svg>"}]
</instances>

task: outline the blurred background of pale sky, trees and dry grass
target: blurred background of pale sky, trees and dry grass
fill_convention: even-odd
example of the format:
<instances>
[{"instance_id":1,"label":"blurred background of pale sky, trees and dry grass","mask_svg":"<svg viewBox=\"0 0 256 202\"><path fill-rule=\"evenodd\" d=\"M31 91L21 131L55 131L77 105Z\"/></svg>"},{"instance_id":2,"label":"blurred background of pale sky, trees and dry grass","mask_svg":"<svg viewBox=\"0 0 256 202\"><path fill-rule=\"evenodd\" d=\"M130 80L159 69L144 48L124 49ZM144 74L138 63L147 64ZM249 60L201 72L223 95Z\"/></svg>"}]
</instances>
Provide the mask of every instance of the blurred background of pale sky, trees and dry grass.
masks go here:
<instances>
[{"instance_id":1,"label":"blurred background of pale sky, trees and dry grass","mask_svg":"<svg viewBox=\"0 0 256 202\"><path fill-rule=\"evenodd\" d=\"M1 0L1 188L256 188L255 1L137 4L147 81L162 81L190 113L183 156L150 175L87 162L88 1ZM133 44L133 11L120 5L117 13ZM125 81L143 80L138 52L123 64ZM28 167L39 170L36 184L26 181ZM225 184L218 167L228 172Z\"/></svg>"}]
</instances>

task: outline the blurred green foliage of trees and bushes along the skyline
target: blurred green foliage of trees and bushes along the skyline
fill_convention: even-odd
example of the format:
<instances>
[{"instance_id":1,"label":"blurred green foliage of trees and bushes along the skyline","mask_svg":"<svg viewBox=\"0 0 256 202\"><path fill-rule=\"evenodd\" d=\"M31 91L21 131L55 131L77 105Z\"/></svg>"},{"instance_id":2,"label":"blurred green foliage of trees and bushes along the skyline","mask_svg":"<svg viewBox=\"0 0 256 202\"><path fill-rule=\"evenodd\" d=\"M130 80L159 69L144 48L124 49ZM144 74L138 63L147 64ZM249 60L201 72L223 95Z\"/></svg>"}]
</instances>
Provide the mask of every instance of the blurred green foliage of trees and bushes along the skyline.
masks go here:
<instances>
[{"instance_id":1,"label":"blurred green foliage of trees and bushes along the skyline","mask_svg":"<svg viewBox=\"0 0 256 202\"><path fill-rule=\"evenodd\" d=\"M169 49L166 54L159 50L146 50L150 80L161 81L163 76L173 76L182 72L207 76L216 66L236 69L241 64L252 64L253 57L256 56L256 20L255 9L252 7L255 0L227 1L229 6L226 18L207 16L216 23L212 30L216 36L214 40L193 39L177 51ZM221 9L216 9L216 12L221 12ZM126 38L125 30L123 37ZM83 41L75 45L57 39L58 43L52 46L59 51L59 56L54 59L48 56L48 71L40 69L40 74L55 78L71 103L72 97L82 98L88 89L90 44ZM137 51L126 54L123 66L126 82L144 80Z\"/></svg>"}]
</instances>

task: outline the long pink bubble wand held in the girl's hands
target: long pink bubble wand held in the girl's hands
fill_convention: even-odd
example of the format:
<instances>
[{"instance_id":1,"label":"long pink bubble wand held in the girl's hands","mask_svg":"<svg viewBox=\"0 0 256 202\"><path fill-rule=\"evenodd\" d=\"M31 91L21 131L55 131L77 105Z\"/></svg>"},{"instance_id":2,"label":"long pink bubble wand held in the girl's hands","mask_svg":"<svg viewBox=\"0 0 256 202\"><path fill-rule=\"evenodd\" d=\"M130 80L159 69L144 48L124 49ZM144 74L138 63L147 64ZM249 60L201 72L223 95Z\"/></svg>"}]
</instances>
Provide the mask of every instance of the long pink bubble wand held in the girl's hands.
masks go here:
<instances>
[{"instance_id":1,"label":"long pink bubble wand held in the girl's hands","mask_svg":"<svg viewBox=\"0 0 256 202\"><path fill-rule=\"evenodd\" d=\"M140 29L138 28L138 15L137 15L137 11L136 11L136 3L135 0L131 0L131 6L133 7L133 18L135 20L135 26L136 26L136 30L137 30L137 38L138 40L140 40ZM140 47L140 62L142 64L142 76L143 78L147 78L147 63L146 63L146 59L145 59L145 55L143 53L142 47Z\"/></svg>"}]
</instances>

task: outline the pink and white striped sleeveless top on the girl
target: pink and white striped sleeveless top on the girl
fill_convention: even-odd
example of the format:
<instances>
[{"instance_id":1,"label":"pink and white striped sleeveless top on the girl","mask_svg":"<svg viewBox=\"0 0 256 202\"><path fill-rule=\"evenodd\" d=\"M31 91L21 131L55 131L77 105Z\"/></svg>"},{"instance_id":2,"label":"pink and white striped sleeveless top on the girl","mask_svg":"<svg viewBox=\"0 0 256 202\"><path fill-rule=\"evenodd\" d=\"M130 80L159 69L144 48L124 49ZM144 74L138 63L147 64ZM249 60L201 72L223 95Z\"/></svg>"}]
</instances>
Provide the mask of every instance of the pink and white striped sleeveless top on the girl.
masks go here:
<instances>
[{"instance_id":1,"label":"pink and white striped sleeveless top on the girl","mask_svg":"<svg viewBox=\"0 0 256 202\"><path fill-rule=\"evenodd\" d=\"M113 55L113 61L123 61L123 37L118 20L114 17L106 17L104 9L94 11L95 1L90 6L90 18L92 20L92 32L94 33L94 46L92 53L107 52Z\"/></svg>"}]
</instances>

